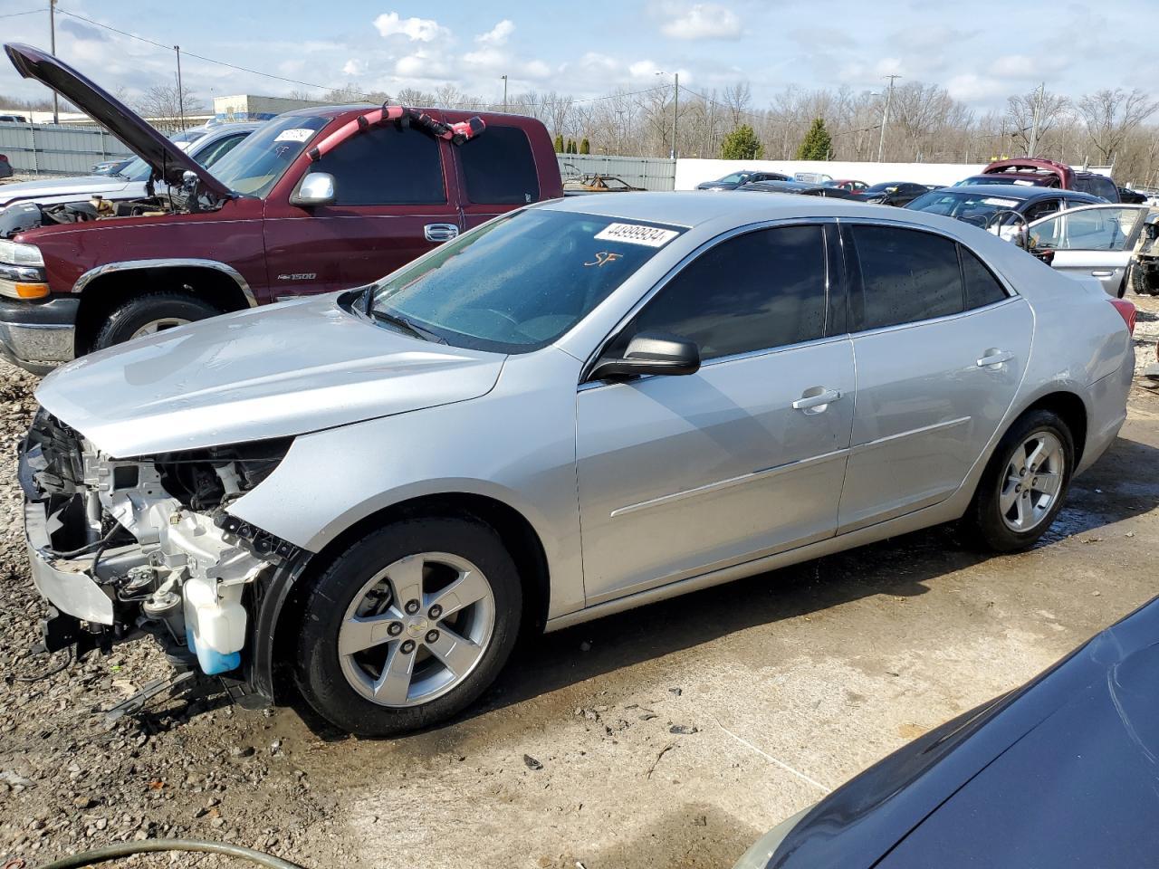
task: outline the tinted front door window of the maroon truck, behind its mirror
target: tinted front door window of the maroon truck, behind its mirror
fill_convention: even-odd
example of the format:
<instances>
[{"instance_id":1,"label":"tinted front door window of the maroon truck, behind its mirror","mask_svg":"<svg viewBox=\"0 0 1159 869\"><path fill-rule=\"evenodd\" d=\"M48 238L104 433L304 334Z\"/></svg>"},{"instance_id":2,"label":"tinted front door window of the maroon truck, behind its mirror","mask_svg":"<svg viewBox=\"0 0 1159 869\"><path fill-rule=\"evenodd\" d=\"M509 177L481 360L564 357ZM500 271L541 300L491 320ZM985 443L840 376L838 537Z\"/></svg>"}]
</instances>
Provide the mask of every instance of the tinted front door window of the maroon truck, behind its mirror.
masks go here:
<instances>
[{"instance_id":1,"label":"tinted front door window of the maroon truck, behind its mirror","mask_svg":"<svg viewBox=\"0 0 1159 869\"><path fill-rule=\"evenodd\" d=\"M446 202L438 139L393 124L356 133L313 165L334 176L336 205Z\"/></svg>"}]
</instances>

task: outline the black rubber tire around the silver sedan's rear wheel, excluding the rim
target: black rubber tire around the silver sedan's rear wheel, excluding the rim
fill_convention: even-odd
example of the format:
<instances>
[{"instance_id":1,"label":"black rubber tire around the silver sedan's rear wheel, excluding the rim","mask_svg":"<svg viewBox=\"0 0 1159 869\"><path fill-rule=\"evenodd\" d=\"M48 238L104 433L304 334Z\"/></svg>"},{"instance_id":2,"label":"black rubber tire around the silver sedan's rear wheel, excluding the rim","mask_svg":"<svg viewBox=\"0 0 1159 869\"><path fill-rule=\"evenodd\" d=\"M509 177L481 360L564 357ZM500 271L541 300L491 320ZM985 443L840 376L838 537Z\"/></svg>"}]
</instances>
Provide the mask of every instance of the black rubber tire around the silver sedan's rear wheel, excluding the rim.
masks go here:
<instances>
[{"instance_id":1,"label":"black rubber tire around the silver sedan's rear wheel, excluding the rim","mask_svg":"<svg viewBox=\"0 0 1159 869\"><path fill-rule=\"evenodd\" d=\"M1042 519L1034 527L1020 532L1009 527L1003 519L999 498L1006 483L1005 473L1015 450L1038 432L1054 434L1062 445L1062 482L1054 503ZM962 527L968 541L978 548L999 553L1030 548L1047 532L1055 521L1055 517L1058 516L1058 511L1062 510L1073 473L1074 438L1066 423L1057 414L1049 410L1027 411L1015 419L1006 434L1003 436L978 481L978 488L970 502L970 507L962 518Z\"/></svg>"}]
</instances>

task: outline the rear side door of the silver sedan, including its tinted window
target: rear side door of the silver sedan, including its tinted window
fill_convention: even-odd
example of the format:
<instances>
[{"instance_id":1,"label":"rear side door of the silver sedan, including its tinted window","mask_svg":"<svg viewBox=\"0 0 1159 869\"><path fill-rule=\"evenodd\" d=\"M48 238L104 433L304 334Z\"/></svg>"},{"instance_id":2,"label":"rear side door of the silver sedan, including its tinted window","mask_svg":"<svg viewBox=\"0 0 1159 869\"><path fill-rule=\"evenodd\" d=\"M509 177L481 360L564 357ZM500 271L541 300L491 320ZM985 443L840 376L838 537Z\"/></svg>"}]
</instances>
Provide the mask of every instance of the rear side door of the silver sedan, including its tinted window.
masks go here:
<instances>
[{"instance_id":1,"label":"rear side door of the silver sedan, including its tinted window","mask_svg":"<svg viewBox=\"0 0 1159 869\"><path fill-rule=\"evenodd\" d=\"M858 372L844 533L943 501L997 431L1022 379L1029 306L935 233L846 225Z\"/></svg>"}]
</instances>

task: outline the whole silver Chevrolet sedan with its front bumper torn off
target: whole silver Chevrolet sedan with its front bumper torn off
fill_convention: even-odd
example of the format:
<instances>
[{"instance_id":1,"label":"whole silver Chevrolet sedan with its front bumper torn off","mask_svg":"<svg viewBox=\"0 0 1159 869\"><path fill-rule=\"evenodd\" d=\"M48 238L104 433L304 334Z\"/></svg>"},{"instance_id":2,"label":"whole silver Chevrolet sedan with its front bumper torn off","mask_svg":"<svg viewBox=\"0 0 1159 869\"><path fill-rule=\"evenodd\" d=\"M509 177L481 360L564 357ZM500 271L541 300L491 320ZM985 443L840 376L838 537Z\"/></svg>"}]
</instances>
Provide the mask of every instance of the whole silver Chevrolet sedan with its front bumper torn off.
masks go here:
<instances>
[{"instance_id":1,"label":"whole silver Chevrolet sedan with its front bumper torn off","mask_svg":"<svg viewBox=\"0 0 1159 869\"><path fill-rule=\"evenodd\" d=\"M386 735L471 703L522 629L950 520L1025 548L1125 417L1111 302L918 212L534 205L46 378L48 645L151 633Z\"/></svg>"}]
</instances>

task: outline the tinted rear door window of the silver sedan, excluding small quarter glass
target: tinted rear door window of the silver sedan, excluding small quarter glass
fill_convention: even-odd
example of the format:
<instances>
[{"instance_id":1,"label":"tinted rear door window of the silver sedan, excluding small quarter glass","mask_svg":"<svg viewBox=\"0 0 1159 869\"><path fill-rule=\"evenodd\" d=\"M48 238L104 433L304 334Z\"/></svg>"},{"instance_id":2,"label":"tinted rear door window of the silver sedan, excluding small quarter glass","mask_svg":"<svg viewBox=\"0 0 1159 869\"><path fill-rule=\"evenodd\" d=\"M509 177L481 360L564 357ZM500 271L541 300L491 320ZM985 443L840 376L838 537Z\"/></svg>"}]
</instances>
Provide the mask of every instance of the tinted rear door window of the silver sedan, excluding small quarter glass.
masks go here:
<instances>
[{"instance_id":1,"label":"tinted rear door window of the silver sedan, excluding small quarter glass","mask_svg":"<svg viewBox=\"0 0 1159 869\"><path fill-rule=\"evenodd\" d=\"M853 311L860 328L961 313L962 272L955 242L892 226L854 225L852 233L861 264L861 311L857 299Z\"/></svg>"}]
</instances>

